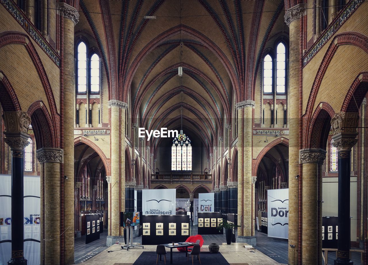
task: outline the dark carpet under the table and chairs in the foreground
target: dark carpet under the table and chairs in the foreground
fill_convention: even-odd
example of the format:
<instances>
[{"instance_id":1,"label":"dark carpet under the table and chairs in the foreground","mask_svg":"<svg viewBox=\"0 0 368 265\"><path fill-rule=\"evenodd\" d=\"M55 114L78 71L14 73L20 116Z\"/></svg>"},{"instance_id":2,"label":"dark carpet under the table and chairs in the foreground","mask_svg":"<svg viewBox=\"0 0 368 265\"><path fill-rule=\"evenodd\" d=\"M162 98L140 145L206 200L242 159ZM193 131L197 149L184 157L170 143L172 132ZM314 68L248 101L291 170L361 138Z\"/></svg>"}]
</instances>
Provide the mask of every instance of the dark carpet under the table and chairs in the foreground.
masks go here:
<instances>
[{"instance_id":1,"label":"dark carpet under the table and chairs in the foreground","mask_svg":"<svg viewBox=\"0 0 368 265\"><path fill-rule=\"evenodd\" d=\"M190 256L190 254L189 254ZM229 262L227 262L225 260L225 258L221 255L221 253L216 253L216 254L212 254L207 252L201 252L201 254L199 254L199 258L201 258L201 264L202 265L213 265L213 264L222 264L222 265L230 265ZM151 251L144 251L142 252L142 254L139 256L139 258L133 263L133 265L149 265L149 264L156 264L156 259L157 259L157 254L156 252L151 252ZM194 260L194 257L193 257ZM163 265L164 261L163 261L163 255L162 255L162 261L160 261L159 258L159 262L157 263L158 265ZM170 264L170 251L167 252L166 254L166 264L169 265ZM187 261L187 257L185 257L185 253L184 252L178 252L175 251L173 252L173 265L190 265L192 264L192 257L189 257L189 261ZM199 265L199 261L197 260L197 258L194 260L193 264L198 264Z\"/></svg>"}]
</instances>

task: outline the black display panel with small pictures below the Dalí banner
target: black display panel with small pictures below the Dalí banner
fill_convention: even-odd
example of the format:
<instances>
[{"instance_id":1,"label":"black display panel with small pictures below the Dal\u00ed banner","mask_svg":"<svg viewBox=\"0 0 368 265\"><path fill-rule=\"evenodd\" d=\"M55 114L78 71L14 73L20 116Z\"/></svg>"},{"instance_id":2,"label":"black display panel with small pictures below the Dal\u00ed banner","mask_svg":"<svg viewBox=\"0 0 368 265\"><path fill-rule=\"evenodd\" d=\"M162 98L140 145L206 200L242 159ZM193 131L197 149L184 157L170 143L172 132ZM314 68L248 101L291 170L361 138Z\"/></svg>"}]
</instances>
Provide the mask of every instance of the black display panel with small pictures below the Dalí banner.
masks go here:
<instances>
[{"instance_id":1,"label":"black display panel with small pictures below the Dal\u00ed banner","mask_svg":"<svg viewBox=\"0 0 368 265\"><path fill-rule=\"evenodd\" d=\"M223 213L198 213L198 235L222 235L224 229L217 229L226 220ZM208 221L208 222L207 222Z\"/></svg>"}]
</instances>

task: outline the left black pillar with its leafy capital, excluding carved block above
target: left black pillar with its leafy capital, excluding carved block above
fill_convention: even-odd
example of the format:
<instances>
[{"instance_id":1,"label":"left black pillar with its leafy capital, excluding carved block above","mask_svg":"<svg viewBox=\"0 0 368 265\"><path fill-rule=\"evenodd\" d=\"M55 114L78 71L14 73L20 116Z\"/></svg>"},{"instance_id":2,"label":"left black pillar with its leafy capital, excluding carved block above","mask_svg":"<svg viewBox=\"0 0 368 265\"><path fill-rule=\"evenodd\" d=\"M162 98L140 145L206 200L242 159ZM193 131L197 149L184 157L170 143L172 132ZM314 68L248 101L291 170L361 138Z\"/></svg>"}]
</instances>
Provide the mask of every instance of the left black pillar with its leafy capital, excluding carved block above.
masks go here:
<instances>
[{"instance_id":1,"label":"left black pillar with its leafy capital, excluding carved block above","mask_svg":"<svg viewBox=\"0 0 368 265\"><path fill-rule=\"evenodd\" d=\"M26 265L24 258L24 148L28 146L28 135L5 134L11 150L11 259L8 264Z\"/></svg>"}]
</instances>

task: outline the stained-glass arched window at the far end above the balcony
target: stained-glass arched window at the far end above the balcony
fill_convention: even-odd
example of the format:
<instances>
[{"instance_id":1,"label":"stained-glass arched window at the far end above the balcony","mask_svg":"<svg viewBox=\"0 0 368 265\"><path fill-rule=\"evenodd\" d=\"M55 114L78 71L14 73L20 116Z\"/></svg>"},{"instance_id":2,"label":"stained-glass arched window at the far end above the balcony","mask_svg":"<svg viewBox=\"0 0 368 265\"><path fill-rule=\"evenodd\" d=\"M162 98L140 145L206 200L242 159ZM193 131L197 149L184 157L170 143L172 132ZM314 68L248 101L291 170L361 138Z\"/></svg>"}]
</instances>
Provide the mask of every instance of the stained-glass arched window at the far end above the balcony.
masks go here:
<instances>
[{"instance_id":1,"label":"stained-glass arched window at the far end above the balcony","mask_svg":"<svg viewBox=\"0 0 368 265\"><path fill-rule=\"evenodd\" d=\"M171 146L171 170L192 170L192 146L189 137L185 141L174 138Z\"/></svg>"}]
</instances>

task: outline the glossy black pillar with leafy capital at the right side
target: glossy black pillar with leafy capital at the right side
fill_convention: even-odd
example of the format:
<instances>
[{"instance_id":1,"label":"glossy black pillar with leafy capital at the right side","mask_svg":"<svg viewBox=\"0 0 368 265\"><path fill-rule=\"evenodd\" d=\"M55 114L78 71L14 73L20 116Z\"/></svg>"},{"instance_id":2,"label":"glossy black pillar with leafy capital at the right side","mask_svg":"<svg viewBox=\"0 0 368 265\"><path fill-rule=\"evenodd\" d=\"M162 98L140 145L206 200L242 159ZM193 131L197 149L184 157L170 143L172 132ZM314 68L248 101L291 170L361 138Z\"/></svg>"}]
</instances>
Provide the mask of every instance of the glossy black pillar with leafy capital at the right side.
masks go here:
<instances>
[{"instance_id":1,"label":"glossy black pillar with leafy capital at the right side","mask_svg":"<svg viewBox=\"0 0 368 265\"><path fill-rule=\"evenodd\" d=\"M336 139L337 138L337 139ZM337 240L337 258L335 265L353 265L350 259L350 155L351 147L357 142L354 137L332 137L332 144L337 148L338 184L338 219L339 240Z\"/></svg>"}]
</instances>

